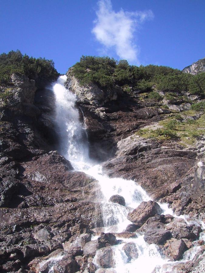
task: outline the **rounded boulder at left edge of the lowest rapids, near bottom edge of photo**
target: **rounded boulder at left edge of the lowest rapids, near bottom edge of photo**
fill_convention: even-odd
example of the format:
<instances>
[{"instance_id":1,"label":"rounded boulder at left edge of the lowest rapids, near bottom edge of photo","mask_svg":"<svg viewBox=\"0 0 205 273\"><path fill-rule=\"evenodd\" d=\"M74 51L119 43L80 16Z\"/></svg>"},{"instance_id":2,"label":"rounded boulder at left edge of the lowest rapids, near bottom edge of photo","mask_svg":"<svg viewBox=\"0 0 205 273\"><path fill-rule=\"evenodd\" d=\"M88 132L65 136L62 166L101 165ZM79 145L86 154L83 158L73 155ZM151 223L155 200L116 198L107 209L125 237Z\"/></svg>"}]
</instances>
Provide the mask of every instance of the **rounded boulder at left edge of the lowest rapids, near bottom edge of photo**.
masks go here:
<instances>
[{"instance_id":1,"label":"rounded boulder at left edge of the lowest rapids, near bottom edge of photo","mask_svg":"<svg viewBox=\"0 0 205 273\"><path fill-rule=\"evenodd\" d=\"M102 268L112 268L115 266L113 250L109 247L101 248L97 251L97 264Z\"/></svg>"}]
</instances>

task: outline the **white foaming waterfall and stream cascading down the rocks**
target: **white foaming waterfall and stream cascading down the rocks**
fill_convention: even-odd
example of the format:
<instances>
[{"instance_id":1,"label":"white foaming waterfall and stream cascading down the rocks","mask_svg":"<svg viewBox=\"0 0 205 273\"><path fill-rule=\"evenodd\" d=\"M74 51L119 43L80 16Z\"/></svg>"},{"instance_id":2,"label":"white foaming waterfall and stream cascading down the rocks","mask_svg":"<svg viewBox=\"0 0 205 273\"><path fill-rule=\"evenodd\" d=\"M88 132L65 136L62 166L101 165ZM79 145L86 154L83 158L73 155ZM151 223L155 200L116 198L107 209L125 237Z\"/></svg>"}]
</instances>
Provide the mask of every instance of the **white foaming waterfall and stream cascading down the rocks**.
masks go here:
<instances>
[{"instance_id":1,"label":"white foaming waterfall and stream cascading down the rocks","mask_svg":"<svg viewBox=\"0 0 205 273\"><path fill-rule=\"evenodd\" d=\"M102 203L103 231L124 231L127 225L131 224L127 219L128 212L135 209L142 201L149 201L150 197L142 187L132 180L109 178L103 174L100 165L89 159L85 128L80 122L79 112L75 106L76 96L64 87L66 79L65 75L60 76L53 86L53 92L56 96L56 129L60 137L59 153L71 162L75 170L89 174L99 181L103 196L99 200ZM125 198L125 207L108 201L114 194L122 195ZM163 214L173 215L173 211L166 204L159 205ZM123 239L122 244L112 247L116 272L152 272L156 266L159 266L159 271L156 272L162 272L160 266L168 262L167 257L165 258L160 254L157 245L147 244L143 237L143 235L138 234L137 238ZM139 256L128 263L122 247L130 241L136 244ZM97 263L96 258L97 254L94 257L94 263ZM184 260L189 259L191 258L184 257ZM169 263L171 266L172 263Z\"/></svg>"}]
</instances>

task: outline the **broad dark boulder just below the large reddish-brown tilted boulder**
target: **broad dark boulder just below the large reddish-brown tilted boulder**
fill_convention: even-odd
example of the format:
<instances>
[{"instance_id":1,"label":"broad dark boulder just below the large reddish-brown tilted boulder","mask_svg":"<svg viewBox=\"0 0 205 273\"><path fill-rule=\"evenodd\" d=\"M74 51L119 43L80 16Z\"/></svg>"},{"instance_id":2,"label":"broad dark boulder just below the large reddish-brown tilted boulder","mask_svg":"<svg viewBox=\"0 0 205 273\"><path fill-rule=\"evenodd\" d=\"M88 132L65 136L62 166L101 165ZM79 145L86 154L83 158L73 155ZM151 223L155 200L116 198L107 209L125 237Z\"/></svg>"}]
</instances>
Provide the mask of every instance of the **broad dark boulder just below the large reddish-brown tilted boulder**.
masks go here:
<instances>
[{"instance_id":1,"label":"broad dark boulder just below the large reddish-brown tilted boulder","mask_svg":"<svg viewBox=\"0 0 205 273\"><path fill-rule=\"evenodd\" d=\"M164 244L172 236L166 229L156 228L145 232L144 240L148 244Z\"/></svg>"}]
</instances>

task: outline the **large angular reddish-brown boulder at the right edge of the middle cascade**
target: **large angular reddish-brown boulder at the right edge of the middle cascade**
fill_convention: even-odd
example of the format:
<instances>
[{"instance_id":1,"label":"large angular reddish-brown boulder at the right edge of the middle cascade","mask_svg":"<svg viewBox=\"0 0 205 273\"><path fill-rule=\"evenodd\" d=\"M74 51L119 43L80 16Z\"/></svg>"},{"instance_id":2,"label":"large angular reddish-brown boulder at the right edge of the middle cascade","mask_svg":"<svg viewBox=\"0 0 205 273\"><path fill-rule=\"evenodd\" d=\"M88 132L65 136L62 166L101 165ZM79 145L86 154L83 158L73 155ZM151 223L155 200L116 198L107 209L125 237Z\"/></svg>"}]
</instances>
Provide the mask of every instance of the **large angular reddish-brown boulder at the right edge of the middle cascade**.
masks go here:
<instances>
[{"instance_id":1,"label":"large angular reddish-brown boulder at the right edge of the middle cascade","mask_svg":"<svg viewBox=\"0 0 205 273\"><path fill-rule=\"evenodd\" d=\"M142 226L149 217L155 214L161 214L162 209L154 201L143 201L134 211L128 213L128 220Z\"/></svg>"}]
</instances>

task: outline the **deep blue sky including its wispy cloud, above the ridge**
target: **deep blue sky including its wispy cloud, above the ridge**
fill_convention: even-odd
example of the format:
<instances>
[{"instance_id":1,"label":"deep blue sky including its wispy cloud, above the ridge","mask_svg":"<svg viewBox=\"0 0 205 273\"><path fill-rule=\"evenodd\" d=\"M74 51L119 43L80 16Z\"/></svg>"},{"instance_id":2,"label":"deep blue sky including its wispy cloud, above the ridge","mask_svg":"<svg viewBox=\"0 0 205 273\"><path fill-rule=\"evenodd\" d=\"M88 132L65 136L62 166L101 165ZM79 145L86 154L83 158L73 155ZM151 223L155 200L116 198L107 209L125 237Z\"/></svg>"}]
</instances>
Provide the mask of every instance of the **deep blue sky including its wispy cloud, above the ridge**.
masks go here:
<instances>
[{"instance_id":1,"label":"deep blue sky including its wispy cloud, above the ridge","mask_svg":"<svg viewBox=\"0 0 205 273\"><path fill-rule=\"evenodd\" d=\"M183 69L205 57L204 0L0 1L0 53L53 59L65 73L82 55Z\"/></svg>"}]
</instances>

